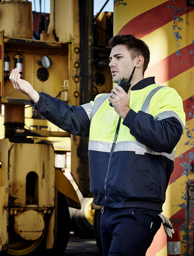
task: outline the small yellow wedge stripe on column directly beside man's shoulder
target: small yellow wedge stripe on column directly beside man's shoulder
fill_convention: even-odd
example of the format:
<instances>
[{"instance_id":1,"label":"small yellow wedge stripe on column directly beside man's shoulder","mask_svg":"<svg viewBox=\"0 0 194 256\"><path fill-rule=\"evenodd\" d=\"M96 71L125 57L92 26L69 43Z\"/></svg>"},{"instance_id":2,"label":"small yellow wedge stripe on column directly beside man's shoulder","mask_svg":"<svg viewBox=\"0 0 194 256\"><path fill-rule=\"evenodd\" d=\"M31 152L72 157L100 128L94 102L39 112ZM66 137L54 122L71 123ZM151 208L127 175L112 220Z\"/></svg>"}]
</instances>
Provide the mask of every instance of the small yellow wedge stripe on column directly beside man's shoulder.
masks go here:
<instances>
[{"instance_id":1,"label":"small yellow wedge stripe on column directly beside man's shoulder","mask_svg":"<svg viewBox=\"0 0 194 256\"><path fill-rule=\"evenodd\" d=\"M174 88L184 101L188 99L189 96L191 97L193 95L193 81L191 79L193 73L194 67L173 77L172 79L162 83L161 85Z\"/></svg>"}]
</instances>

